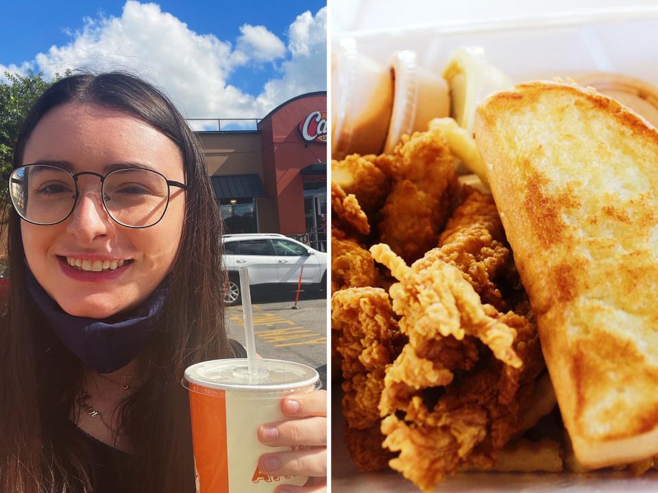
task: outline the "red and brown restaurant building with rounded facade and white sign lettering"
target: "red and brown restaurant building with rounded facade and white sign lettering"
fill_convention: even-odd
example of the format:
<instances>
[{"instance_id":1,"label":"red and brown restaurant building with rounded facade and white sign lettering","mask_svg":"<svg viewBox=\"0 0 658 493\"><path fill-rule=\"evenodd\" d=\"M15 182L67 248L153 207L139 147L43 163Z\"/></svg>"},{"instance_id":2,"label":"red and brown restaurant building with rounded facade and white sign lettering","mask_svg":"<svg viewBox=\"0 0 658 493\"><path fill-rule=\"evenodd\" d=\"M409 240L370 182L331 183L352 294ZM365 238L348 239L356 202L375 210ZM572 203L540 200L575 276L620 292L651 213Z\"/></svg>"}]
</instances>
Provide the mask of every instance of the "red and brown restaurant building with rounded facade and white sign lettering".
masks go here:
<instances>
[{"instance_id":1,"label":"red and brown restaurant building with rounded facade and white sign lettering","mask_svg":"<svg viewBox=\"0 0 658 493\"><path fill-rule=\"evenodd\" d=\"M289 99L255 129L197 131L228 233L282 233L326 251L327 93Z\"/></svg>"}]
</instances>

